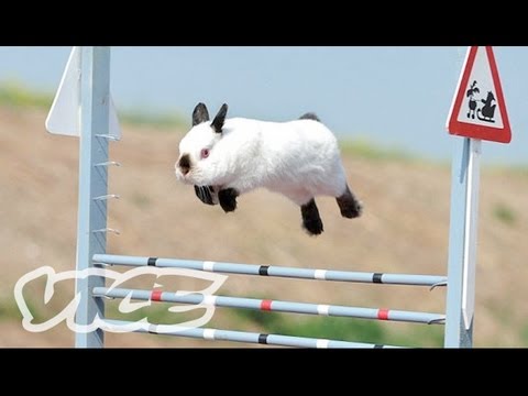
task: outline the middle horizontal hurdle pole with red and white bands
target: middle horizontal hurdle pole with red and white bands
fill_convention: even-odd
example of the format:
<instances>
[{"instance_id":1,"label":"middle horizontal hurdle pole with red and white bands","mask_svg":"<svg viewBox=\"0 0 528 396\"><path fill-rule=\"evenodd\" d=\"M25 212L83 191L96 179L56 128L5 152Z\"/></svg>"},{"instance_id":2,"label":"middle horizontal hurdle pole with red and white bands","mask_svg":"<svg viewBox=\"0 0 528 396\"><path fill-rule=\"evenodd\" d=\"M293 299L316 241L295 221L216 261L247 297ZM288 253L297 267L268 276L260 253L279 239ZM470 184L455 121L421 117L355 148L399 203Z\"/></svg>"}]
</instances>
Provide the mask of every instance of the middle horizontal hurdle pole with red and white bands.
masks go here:
<instances>
[{"instance_id":1,"label":"middle horizontal hurdle pole with red and white bands","mask_svg":"<svg viewBox=\"0 0 528 396\"><path fill-rule=\"evenodd\" d=\"M177 302L177 304L196 304L196 305L201 304L206 306L245 308L245 309L256 309L262 311L277 311L277 312L308 314L308 315L321 315L321 316L360 318L360 319L405 321L405 322L427 323L427 324L443 324L443 322L446 321L446 316L439 315L439 314L377 309L377 308L345 307L345 306L323 305L323 304L278 301L278 300L267 300L267 299L256 299L256 298L213 296L213 295L202 295L198 293L184 295L180 293L161 292L156 289L141 290L141 289L108 288L108 287L94 287L92 293L95 297L124 298L128 295L130 295L130 298L132 299L144 300L144 301L151 300L151 301Z\"/></svg>"}]
</instances>

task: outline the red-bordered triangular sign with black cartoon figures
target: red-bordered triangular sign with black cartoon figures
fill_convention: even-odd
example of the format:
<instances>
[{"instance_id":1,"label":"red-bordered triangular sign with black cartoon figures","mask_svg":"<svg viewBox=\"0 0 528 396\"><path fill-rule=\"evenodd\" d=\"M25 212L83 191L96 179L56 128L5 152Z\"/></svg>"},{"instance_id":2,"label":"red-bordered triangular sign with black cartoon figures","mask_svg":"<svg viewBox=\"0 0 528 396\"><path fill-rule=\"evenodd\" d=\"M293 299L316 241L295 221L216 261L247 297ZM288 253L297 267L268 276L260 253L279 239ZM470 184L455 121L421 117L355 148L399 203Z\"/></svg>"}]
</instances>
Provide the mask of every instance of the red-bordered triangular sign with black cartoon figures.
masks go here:
<instances>
[{"instance_id":1,"label":"red-bordered triangular sign with black cartoon figures","mask_svg":"<svg viewBox=\"0 0 528 396\"><path fill-rule=\"evenodd\" d=\"M468 48L448 117L450 134L509 143L509 128L503 87L491 46Z\"/></svg>"}]
</instances>

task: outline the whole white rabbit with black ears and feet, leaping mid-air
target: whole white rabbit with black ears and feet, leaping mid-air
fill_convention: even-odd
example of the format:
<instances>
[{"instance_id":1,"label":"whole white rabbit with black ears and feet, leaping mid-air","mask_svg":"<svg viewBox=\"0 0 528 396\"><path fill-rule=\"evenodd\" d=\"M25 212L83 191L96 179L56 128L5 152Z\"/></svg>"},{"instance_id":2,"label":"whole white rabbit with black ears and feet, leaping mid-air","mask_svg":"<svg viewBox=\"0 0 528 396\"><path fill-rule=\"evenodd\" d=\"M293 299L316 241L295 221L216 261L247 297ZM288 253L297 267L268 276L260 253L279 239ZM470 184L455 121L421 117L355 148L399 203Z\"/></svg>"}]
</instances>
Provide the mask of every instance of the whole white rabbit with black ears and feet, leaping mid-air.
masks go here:
<instances>
[{"instance_id":1,"label":"whole white rabbit with black ears and feet, leaping mid-air","mask_svg":"<svg viewBox=\"0 0 528 396\"><path fill-rule=\"evenodd\" d=\"M226 212L237 198L255 188L279 193L300 207L302 228L323 232L316 196L336 197L341 216L362 215L363 205L349 188L338 142L315 113L289 122L226 119L222 105L212 121L204 103L193 111L193 128L179 142L176 178L195 186L205 204Z\"/></svg>"}]
</instances>

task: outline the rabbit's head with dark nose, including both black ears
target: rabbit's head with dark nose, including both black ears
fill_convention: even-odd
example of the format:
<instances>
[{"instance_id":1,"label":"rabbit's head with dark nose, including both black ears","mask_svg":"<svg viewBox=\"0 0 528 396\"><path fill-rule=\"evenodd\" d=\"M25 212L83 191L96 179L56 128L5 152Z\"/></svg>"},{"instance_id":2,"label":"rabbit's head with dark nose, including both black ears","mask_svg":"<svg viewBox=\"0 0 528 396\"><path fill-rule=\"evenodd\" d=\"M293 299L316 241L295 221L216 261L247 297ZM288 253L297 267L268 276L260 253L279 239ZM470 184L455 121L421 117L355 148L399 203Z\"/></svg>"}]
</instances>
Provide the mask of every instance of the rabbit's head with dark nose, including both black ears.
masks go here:
<instances>
[{"instance_id":1,"label":"rabbit's head with dark nose, including both black ears","mask_svg":"<svg viewBox=\"0 0 528 396\"><path fill-rule=\"evenodd\" d=\"M228 106L220 108L217 117L209 122L209 112L204 103L193 111L193 129L179 142L179 157L174 165L176 177L185 184L204 185L204 178L213 166L210 156L222 136L222 127Z\"/></svg>"}]
</instances>

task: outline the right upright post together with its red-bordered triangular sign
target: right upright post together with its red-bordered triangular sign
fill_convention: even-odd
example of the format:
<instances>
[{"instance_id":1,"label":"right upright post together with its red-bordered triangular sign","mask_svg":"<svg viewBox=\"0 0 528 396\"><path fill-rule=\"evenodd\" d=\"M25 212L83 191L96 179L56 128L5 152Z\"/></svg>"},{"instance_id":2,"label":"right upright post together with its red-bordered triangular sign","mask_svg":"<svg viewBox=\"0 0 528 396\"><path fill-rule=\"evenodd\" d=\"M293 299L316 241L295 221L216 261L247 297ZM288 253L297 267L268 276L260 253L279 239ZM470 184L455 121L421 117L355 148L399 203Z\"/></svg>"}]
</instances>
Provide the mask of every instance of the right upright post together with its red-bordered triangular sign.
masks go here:
<instances>
[{"instance_id":1,"label":"right upright post together with its red-bordered triangular sign","mask_svg":"<svg viewBox=\"0 0 528 396\"><path fill-rule=\"evenodd\" d=\"M482 140L509 143L512 130L491 46L468 48L447 129L455 142L451 169L446 348L473 345Z\"/></svg>"}]
</instances>

